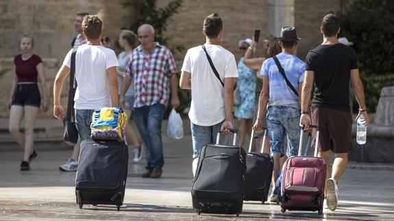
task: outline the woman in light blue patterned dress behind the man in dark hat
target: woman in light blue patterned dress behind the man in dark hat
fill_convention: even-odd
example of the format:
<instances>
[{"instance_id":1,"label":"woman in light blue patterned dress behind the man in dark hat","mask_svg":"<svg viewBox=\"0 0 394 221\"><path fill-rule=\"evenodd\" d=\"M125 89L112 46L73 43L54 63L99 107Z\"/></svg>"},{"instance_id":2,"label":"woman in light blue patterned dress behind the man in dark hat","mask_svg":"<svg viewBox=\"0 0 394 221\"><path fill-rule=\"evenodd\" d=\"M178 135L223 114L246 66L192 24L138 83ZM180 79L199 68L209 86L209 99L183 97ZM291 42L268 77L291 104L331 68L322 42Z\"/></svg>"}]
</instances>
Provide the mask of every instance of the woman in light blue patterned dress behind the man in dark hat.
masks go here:
<instances>
[{"instance_id":1,"label":"woman in light blue patterned dress behind the man in dark hat","mask_svg":"<svg viewBox=\"0 0 394 221\"><path fill-rule=\"evenodd\" d=\"M238 47L242 51L243 56L250 47L251 42L250 38L238 42ZM243 64L243 56L238 62L238 79L236 79L236 87L239 91L241 103L236 106L234 111L239 133L239 146L243 146L245 138L248 134L251 134L256 92L256 71Z\"/></svg>"}]
</instances>

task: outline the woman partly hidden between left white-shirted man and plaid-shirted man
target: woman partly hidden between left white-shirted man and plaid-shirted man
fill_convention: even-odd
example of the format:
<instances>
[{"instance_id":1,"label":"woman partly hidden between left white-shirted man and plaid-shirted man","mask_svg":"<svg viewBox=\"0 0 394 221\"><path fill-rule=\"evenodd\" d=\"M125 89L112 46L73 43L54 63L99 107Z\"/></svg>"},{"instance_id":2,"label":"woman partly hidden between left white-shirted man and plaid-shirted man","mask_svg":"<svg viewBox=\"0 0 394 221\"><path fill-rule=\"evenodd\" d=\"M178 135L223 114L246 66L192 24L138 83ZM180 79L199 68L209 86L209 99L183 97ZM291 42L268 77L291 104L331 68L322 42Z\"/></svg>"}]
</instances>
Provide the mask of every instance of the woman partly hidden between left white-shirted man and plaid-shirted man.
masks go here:
<instances>
[{"instance_id":1,"label":"woman partly hidden between left white-shirted man and plaid-shirted man","mask_svg":"<svg viewBox=\"0 0 394 221\"><path fill-rule=\"evenodd\" d=\"M119 94L121 94L121 86L123 82L123 78L126 76L126 68L127 64L130 62L130 57L133 52L134 44L136 43L137 36L133 31L123 30L119 35L119 46L124 49L118 55L118 82L119 82ZM143 148L141 148L140 141L138 140L137 131L130 124L130 120L132 120L132 111L134 104L134 83L132 82L130 87L127 89L125 94L125 105L121 104L121 108L125 111L127 116L129 117L129 122L126 125L125 133L127 142L131 142L134 145L133 151L133 161L138 162L143 157Z\"/></svg>"}]
</instances>

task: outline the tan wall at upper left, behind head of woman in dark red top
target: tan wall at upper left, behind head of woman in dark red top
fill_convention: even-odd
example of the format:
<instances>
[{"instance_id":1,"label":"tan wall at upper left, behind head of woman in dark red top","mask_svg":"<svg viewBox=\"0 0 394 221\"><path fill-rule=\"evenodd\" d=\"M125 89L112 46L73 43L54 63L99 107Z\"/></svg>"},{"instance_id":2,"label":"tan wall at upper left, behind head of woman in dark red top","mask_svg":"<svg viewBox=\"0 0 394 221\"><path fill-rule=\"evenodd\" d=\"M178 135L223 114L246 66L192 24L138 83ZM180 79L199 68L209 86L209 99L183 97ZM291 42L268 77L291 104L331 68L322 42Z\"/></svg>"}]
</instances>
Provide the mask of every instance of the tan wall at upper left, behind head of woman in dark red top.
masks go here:
<instances>
[{"instance_id":1,"label":"tan wall at upper left, behind head of woman in dark red top","mask_svg":"<svg viewBox=\"0 0 394 221\"><path fill-rule=\"evenodd\" d=\"M34 53L54 57L61 64L75 36L73 21L77 12L99 14L103 34L117 39L121 27L132 20L132 10L122 0L0 0L0 57L13 57L18 51L18 36L34 36Z\"/></svg>"}]
</instances>

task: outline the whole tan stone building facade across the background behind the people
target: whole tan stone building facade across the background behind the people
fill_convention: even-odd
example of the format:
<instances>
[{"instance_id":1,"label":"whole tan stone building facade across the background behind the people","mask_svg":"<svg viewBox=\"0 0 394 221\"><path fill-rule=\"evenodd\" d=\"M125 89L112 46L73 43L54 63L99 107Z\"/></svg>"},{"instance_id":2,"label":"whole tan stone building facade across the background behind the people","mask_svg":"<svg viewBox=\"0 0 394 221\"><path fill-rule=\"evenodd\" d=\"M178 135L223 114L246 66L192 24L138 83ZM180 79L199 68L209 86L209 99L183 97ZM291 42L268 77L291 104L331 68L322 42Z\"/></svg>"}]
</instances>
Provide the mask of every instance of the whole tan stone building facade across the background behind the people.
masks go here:
<instances>
[{"instance_id":1,"label":"whole tan stone building facade across the background behind the people","mask_svg":"<svg viewBox=\"0 0 394 221\"><path fill-rule=\"evenodd\" d=\"M73 20L77 12L98 14L104 23L103 34L116 40L121 27L133 23L136 11L123 8L123 0L0 0L0 118L8 117L6 103L14 77L12 57L18 54L19 34L31 33L35 38L34 53L45 63L45 75L49 94L53 79L62 64L64 55L71 48L75 36ZM171 0L160 0L158 6ZM349 0L348 0L349 1ZM167 36L169 46L182 45L185 51L175 53L182 63L186 49L204 43L201 34L204 16L218 12L223 17L224 38L222 45L236 55L238 40L250 38L254 29L261 30L261 38L277 36L282 26L297 27L302 38L297 55L304 59L306 53L321 42L319 26L328 12L342 10L343 0L184 0L178 13L169 20ZM66 89L62 98L66 103ZM52 102L52 99L51 99ZM51 106L52 107L52 106ZM40 118L52 116L52 109Z\"/></svg>"}]
</instances>

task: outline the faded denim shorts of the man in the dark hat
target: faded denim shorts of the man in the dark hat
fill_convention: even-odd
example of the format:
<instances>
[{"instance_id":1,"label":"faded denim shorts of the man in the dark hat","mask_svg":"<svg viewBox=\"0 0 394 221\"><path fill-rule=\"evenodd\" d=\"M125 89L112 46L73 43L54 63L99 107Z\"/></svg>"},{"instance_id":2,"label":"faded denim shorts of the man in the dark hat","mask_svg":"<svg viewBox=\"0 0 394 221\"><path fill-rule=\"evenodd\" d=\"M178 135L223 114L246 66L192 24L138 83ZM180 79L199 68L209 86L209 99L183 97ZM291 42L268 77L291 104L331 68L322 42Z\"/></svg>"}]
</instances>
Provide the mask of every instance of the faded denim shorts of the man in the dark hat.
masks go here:
<instances>
[{"instance_id":1,"label":"faded denim shorts of the man in the dark hat","mask_svg":"<svg viewBox=\"0 0 394 221\"><path fill-rule=\"evenodd\" d=\"M284 155L284 135L287 135L287 156L297 156L299 146L299 117L295 107L269 106L267 113L268 138L271 153Z\"/></svg>"}]
</instances>

